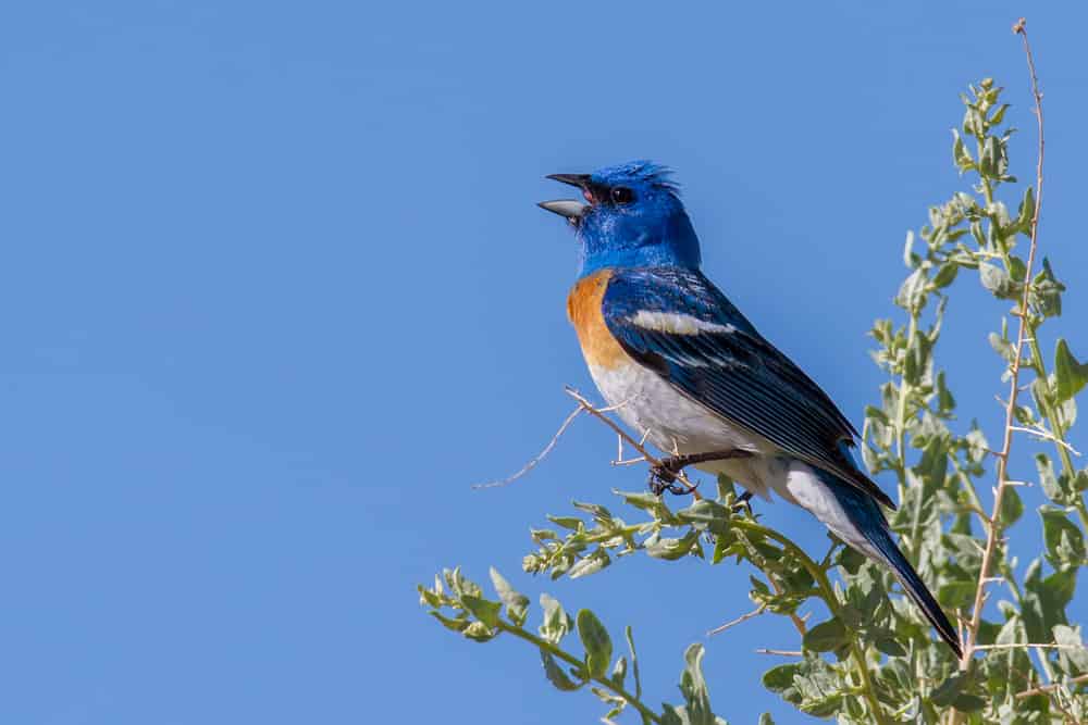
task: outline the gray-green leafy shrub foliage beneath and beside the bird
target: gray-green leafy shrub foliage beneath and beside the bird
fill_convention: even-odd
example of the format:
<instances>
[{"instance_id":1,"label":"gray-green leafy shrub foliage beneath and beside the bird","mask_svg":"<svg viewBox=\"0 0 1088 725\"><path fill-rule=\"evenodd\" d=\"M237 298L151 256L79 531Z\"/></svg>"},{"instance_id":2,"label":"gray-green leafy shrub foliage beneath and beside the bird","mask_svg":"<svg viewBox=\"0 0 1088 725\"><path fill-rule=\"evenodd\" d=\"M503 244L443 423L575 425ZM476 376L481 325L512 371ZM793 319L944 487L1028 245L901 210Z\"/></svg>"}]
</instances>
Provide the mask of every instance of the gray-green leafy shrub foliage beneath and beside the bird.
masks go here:
<instances>
[{"instance_id":1,"label":"gray-green leafy shrub foliage beneath and beside the bird","mask_svg":"<svg viewBox=\"0 0 1088 725\"><path fill-rule=\"evenodd\" d=\"M1015 213L999 198L1001 187L1015 182L1009 175L1012 129L1003 129L1009 107L999 102L1000 93L985 79L963 97L965 114L952 155L973 184L929 210L920 241L907 236L910 273L894 298L901 322L879 320L871 329L878 346L874 360L889 379L879 401L866 409L863 430L866 465L897 483L900 508L891 525L904 552L945 611L965 623L964 662L934 638L885 567L833 538L821 558L809 557L737 507L728 480L718 482L715 498L677 510L646 492L616 491L630 521L603 505L576 502L574 515L548 516L554 528L531 532L535 550L524 558L526 572L578 578L640 552L669 561L744 562L752 570L752 601L761 612L790 617L802 650L795 661L770 667L764 686L806 713L841 723L937 723L947 713L970 723L1088 718L1088 650L1067 609L1086 564L1088 470L1076 467L1065 443L1076 421L1075 396L1088 383L1088 364L1063 339L1050 358L1038 341L1040 327L1061 314L1065 288L1041 258L1025 298L1027 262L1017 246L1030 236L1035 197L1026 187ZM1033 460L1025 450L1027 434L1018 432L1014 470L1030 466L1036 477L1001 486L996 516L984 502L992 501L996 457L977 424L957 423L950 389L953 375L976 374L977 365L947 373L935 358L950 290L976 278L1005 310L1013 304L1013 321L1001 318L989 343L1004 360L1005 379L1016 365L1018 384L1029 391L1015 407L1015 425L1047 440L1056 457L1056 464L1046 452ZM1027 343L1017 364L1011 330L1019 317ZM1038 486L1023 488L1024 483ZM1025 499L1036 505L1043 536L1038 553L1018 566L1005 533L1023 517ZM991 566L982 572L991 539ZM702 646L692 645L684 655L683 703L653 708L642 701L630 628L629 654L617 657L607 628L592 612L582 610L572 618L544 595L542 624L532 633L526 628L529 600L497 573L492 579L495 599L458 571L447 571L434 587L420 587L422 603L466 637L487 641L507 634L531 642L540 650L545 676L560 690L591 689L608 708L605 722L625 710L643 723L724 722L710 709ZM980 586L991 603L975 617ZM802 610L827 612L827 618L803 620ZM581 654L564 649L572 633ZM761 722L771 721L765 715Z\"/></svg>"}]
</instances>

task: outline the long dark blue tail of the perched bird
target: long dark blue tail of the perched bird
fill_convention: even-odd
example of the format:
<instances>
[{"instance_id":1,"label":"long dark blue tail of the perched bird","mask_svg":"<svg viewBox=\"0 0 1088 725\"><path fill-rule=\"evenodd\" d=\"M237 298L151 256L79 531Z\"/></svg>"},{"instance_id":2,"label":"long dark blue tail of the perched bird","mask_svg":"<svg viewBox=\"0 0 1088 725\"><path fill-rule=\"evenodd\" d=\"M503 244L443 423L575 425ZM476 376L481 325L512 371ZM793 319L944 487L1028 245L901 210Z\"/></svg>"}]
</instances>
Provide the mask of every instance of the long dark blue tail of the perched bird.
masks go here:
<instances>
[{"instance_id":1,"label":"long dark blue tail of the perched bird","mask_svg":"<svg viewBox=\"0 0 1088 725\"><path fill-rule=\"evenodd\" d=\"M827 475L821 476L821 478L824 478L832 495L838 499L857 532L880 553L883 563L890 566L892 572L895 573L895 578L899 579L903 589L910 595L911 600L914 601L917 608L922 610L922 613L926 615L926 618L929 620L929 624L934 625L941 639L948 642L948 646L955 652L956 658L962 659L963 649L960 645L960 636L955 627L952 626L948 616L944 615L944 611L937 603L937 599L926 588L922 577L911 566L911 562L906 560L906 557L900 551L899 546L895 545L895 540L891 536L891 528L888 526L888 520L885 518L883 512L880 511L877 502L854 486L839 483Z\"/></svg>"}]
</instances>

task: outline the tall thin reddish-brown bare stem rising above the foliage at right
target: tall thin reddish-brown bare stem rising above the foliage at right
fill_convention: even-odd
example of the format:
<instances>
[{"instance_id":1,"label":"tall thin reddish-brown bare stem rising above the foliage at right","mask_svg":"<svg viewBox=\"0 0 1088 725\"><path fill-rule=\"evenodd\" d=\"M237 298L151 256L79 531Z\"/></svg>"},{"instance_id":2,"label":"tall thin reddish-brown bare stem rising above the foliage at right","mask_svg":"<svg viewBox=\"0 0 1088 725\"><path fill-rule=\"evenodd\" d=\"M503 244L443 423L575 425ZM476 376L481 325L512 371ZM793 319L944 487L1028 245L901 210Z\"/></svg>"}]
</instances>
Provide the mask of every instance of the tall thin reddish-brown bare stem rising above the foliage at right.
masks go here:
<instances>
[{"instance_id":1,"label":"tall thin reddish-brown bare stem rising above the foliage at right","mask_svg":"<svg viewBox=\"0 0 1088 725\"><path fill-rule=\"evenodd\" d=\"M1027 67L1031 76L1031 93L1035 97L1035 115L1039 128L1039 151L1035 170L1035 210L1031 215L1030 246L1028 247L1027 262L1024 265L1024 293L1021 297L1019 312L1016 330L1016 346L1013 349L1012 363L1009 366L1009 402L1005 405L1004 438L1001 453L998 455L998 486L993 495L992 522L987 526L986 550L982 554L982 564L978 574L978 587L975 590L975 602L972 611L970 622L967 625L966 641L963 648L963 659L960 660L960 670L966 671L970 663L972 654L977 649L975 641L978 637L978 628L982 623L982 603L986 599L986 582L993 564L993 557L998 548L998 540L1001 538L1000 518L1001 503L1004 498L1005 487L1009 479L1009 454L1012 450L1013 428L1016 414L1016 396L1019 393L1019 371L1021 362L1024 358L1024 345L1028 337L1028 315L1030 314L1028 302L1031 292L1031 270L1035 265L1035 254L1038 249L1039 235L1039 211L1042 209L1042 163L1044 158L1046 142L1043 138L1042 125L1042 93L1039 92L1039 79L1035 72L1035 59L1031 57L1031 46L1027 39L1027 30L1024 28L1025 20L1022 17L1013 26L1013 33L1018 34L1024 40L1024 53L1027 57Z\"/></svg>"}]
</instances>

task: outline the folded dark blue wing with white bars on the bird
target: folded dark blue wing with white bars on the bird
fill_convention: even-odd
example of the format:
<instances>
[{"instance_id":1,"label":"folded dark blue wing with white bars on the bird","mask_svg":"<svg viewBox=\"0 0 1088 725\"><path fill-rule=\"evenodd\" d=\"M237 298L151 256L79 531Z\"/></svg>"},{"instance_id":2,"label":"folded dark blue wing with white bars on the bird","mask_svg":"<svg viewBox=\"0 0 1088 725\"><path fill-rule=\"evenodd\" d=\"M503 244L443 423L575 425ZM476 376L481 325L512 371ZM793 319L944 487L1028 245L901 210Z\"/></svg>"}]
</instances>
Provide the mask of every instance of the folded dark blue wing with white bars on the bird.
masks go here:
<instances>
[{"instance_id":1,"label":"folded dark blue wing with white bars on the bird","mask_svg":"<svg viewBox=\"0 0 1088 725\"><path fill-rule=\"evenodd\" d=\"M602 307L608 330L628 354L684 396L895 508L854 464L849 447L857 432L850 421L702 273L616 271ZM705 324L670 327L654 313Z\"/></svg>"}]
</instances>

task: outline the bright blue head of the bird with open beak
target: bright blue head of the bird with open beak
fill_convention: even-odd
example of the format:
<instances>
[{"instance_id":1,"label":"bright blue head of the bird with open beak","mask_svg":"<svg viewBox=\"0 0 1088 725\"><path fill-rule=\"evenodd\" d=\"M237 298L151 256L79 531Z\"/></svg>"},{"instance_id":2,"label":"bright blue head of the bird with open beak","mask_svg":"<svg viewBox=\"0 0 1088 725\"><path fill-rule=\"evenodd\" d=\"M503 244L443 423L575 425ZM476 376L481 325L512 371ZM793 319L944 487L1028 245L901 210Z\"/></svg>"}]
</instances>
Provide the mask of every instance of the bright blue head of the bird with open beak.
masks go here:
<instances>
[{"instance_id":1,"label":"bright blue head of the bird with open beak","mask_svg":"<svg viewBox=\"0 0 1088 725\"><path fill-rule=\"evenodd\" d=\"M567 217L574 228L579 276L603 267L698 267L698 238L666 167L632 161L592 174L548 178L579 187L588 202L540 204Z\"/></svg>"}]
</instances>

